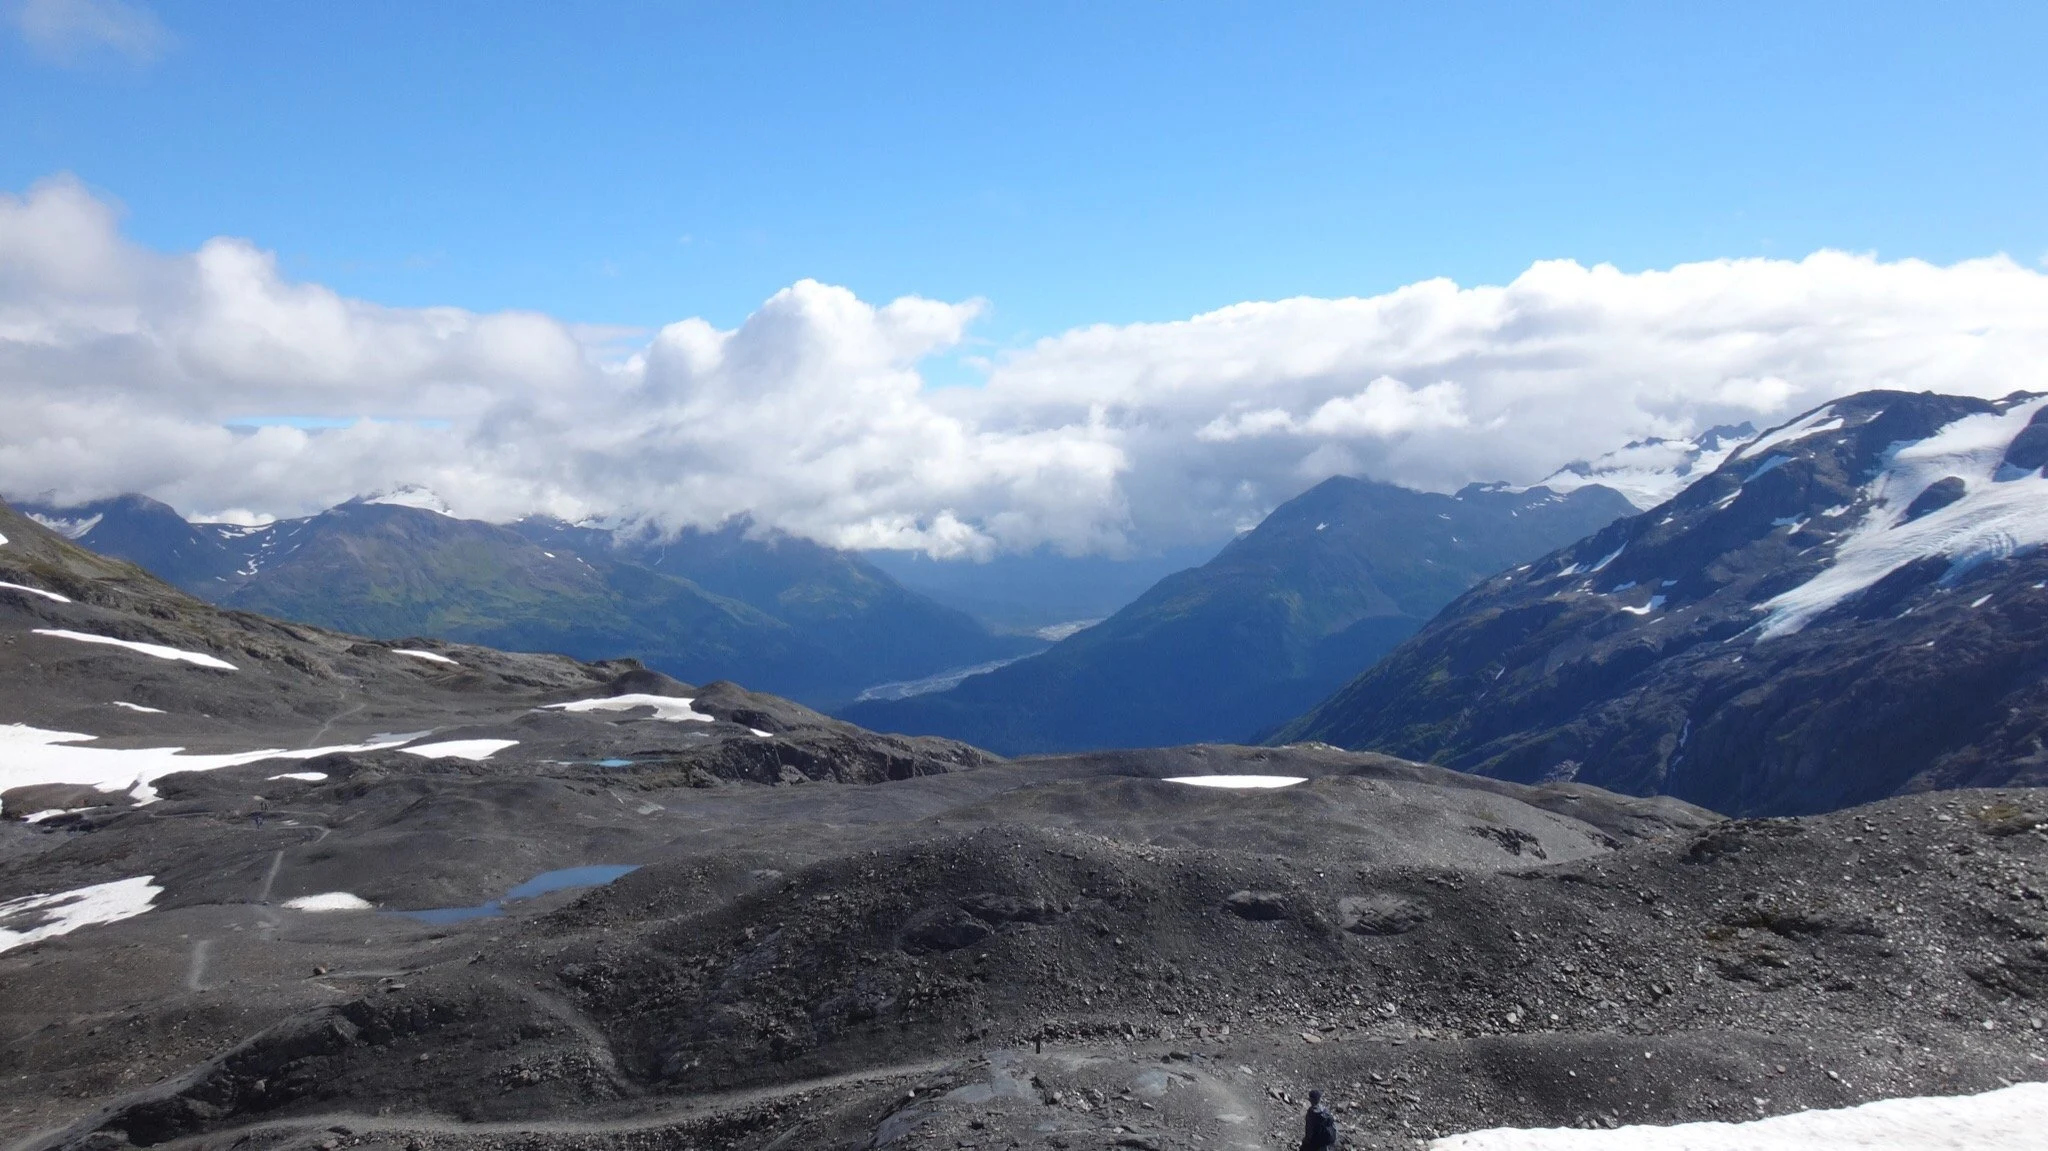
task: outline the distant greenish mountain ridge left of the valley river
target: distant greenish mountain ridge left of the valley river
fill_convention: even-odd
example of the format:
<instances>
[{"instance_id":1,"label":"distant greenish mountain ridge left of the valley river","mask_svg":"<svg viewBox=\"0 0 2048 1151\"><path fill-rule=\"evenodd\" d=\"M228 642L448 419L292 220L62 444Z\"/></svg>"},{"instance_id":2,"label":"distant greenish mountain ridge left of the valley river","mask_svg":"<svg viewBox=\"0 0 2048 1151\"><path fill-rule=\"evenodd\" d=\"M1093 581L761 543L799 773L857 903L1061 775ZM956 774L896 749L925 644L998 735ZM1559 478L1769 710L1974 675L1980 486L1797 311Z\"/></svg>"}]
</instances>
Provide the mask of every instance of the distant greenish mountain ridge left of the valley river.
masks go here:
<instances>
[{"instance_id":1,"label":"distant greenish mountain ridge left of the valley river","mask_svg":"<svg viewBox=\"0 0 2048 1151\"><path fill-rule=\"evenodd\" d=\"M385 639L582 659L631 651L672 676L743 680L817 707L1042 647L995 635L858 555L750 524L662 539L463 520L416 506L432 500L422 492L395 500L254 528L193 524L141 496L23 510L221 606Z\"/></svg>"}]
</instances>

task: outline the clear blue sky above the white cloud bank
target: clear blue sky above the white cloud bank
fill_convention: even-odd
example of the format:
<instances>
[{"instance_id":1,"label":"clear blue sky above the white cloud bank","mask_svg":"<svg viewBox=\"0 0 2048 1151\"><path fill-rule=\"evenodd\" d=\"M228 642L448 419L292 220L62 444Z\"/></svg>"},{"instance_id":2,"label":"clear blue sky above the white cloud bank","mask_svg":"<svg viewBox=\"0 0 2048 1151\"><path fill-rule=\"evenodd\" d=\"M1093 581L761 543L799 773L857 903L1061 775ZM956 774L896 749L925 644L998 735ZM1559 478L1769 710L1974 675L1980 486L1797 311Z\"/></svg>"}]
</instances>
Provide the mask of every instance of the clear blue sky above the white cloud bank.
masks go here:
<instances>
[{"instance_id":1,"label":"clear blue sky above the white cloud bank","mask_svg":"<svg viewBox=\"0 0 2048 1151\"><path fill-rule=\"evenodd\" d=\"M16 12L20 4L16 2ZM0 186L393 305L977 338L1243 299L2048 252L2044 4L156 4L0 45Z\"/></svg>"}]
</instances>

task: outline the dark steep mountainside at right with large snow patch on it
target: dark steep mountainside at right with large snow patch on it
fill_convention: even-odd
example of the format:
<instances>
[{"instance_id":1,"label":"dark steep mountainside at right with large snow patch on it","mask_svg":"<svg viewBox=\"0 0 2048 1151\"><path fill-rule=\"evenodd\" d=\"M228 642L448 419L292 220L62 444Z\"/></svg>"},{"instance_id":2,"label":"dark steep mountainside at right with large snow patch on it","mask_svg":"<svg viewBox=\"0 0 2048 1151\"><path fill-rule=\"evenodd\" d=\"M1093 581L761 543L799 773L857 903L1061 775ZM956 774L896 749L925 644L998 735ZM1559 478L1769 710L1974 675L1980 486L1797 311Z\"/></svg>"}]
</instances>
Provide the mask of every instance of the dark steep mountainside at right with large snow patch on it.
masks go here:
<instances>
[{"instance_id":1,"label":"dark steep mountainside at right with large snow patch on it","mask_svg":"<svg viewBox=\"0 0 2048 1151\"><path fill-rule=\"evenodd\" d=\"M1487 580L1278 741L1739 815L2048 782L2040 412L1829 403Z\"/></svg>"}]
</instances>

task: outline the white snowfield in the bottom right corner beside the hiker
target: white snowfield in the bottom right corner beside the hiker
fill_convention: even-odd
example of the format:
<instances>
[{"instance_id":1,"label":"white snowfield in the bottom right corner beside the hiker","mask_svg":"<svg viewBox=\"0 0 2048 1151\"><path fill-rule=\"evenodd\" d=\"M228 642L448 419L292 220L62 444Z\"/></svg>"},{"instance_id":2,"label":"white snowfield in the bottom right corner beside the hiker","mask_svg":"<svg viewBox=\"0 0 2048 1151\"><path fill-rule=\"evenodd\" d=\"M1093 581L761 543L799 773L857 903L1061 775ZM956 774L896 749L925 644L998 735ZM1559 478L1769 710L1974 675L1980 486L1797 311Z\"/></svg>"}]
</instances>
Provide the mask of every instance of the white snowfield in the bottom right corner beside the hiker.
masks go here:
<instances>
[{"instance_id":1,"label":"white snowfield in the bottom right corner beside the hiker","mask_svg":"<svg viewBox=\"0 0 2048 1151\"><path fill-rule=\"evenodd\" d=\"M1982 1096L1878 1100L1755 1122L1681 1122L1612 1131L1499 1126L1452 1135L1432 1151L2034 1151L2048 1139L2048 1083Z\"/></svg>"}]
</instances>

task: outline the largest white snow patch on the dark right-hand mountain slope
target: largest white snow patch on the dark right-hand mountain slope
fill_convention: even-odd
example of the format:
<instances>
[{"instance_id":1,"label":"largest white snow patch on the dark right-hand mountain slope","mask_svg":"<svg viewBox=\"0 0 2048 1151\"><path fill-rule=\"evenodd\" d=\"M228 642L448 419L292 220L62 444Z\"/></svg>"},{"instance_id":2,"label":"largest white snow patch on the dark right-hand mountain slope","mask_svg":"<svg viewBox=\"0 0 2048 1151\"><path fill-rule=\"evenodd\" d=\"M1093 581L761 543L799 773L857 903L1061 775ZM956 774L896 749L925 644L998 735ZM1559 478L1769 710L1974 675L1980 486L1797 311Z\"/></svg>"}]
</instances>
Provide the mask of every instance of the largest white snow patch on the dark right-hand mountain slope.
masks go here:
<instances>
[{"instance_id":1,"label":"largest white snow patch on the dark right-hand mountain slope","mask_svg":"<svg viewBox=\"0 0 2048 1151\"><path fill-rule=\"evenodd\" d=\"M1948 557L1944 580L1954 580L1978 563L2048 543L2048 479L2038 473L1995 479L2005 449L2044 403L2048 397L1964 416L1925 440L1896 444L1864 485L1870 510L1843 532L1827 571L1761 604L1769 616L1759 639L1806 627L1915 559ZM1907 522L1913 500L1950 475L1964 481L1962 498Z\"/></svg>"}]
</instances>

